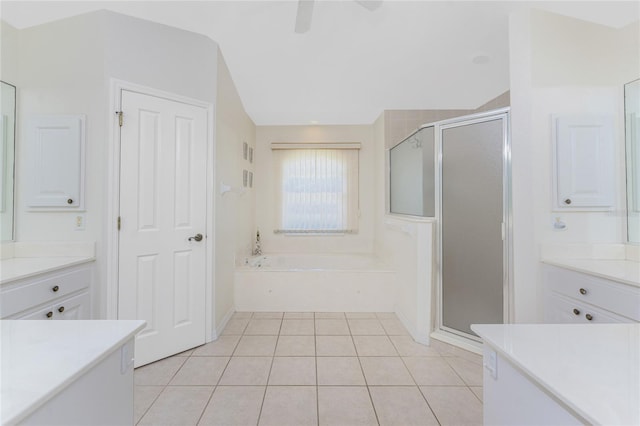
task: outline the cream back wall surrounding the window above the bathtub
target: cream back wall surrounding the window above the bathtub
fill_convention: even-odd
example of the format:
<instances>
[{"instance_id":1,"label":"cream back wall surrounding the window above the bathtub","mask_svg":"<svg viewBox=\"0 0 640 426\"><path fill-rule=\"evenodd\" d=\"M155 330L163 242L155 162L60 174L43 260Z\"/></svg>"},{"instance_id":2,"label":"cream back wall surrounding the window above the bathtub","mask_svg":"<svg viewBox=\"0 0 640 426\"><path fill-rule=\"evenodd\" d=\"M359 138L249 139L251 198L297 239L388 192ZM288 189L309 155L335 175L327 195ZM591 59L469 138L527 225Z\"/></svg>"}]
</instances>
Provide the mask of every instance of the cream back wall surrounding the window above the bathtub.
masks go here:
<instances>
[{"instance_id":1,"label":"cream back wall surrounding the window above the bathtub","mask_svg":"<svg viewBox=\"0 0 640 426\"><path fill-rule=\"evenodd\" d=\"M357 234L331 236L275 235L276 227L271 143L273 142L360 142L360 223ZM279 253L372 253L374 240L375 179L372 126L258 126L256 225L260 228L263 251Z\"/></svg>"}]
</instances>

